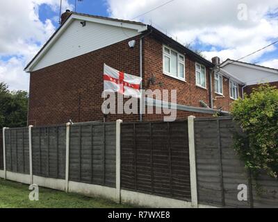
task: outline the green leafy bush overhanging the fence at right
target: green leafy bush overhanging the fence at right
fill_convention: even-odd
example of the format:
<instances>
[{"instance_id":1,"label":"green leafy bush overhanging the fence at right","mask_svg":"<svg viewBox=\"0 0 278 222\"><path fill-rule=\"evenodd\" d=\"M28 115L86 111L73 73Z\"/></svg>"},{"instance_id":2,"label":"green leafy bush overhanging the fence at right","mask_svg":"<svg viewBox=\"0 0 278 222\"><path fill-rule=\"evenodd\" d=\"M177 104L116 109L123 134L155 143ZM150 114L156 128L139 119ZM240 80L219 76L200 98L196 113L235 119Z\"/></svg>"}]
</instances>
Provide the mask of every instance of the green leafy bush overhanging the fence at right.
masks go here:
<instances>
[{"instance_id":1,"label":"green leafy bush overhanging the fence at right","mask_svg":"<svg viewBox=\"0 0 278 222\"><path fill-rule=\"evenodd\" d=\"M235 148L254 175L259 169L278 176L278 89L261 85L250 96L232 104L231 113L244 134L237 135Z\"/></svg>"}]
</instances>

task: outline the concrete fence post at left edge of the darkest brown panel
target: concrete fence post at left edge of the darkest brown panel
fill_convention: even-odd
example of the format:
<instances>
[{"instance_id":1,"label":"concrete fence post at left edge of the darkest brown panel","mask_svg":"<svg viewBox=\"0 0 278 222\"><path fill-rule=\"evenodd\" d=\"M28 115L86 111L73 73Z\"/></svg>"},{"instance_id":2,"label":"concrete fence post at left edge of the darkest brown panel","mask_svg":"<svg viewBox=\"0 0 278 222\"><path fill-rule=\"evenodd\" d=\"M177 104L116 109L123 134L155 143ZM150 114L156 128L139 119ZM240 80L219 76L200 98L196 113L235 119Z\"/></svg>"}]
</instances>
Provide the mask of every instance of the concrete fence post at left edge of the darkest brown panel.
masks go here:
<instances>
[{"instance_id":1,"label":"concrete fence post at left edge of the darkest brown panel","mask_svg":"<svg viewBox=\"0 0 278 222\"><path fill-rule=\"evenodd\" d=\"M116 121L116 192L117 201L121 203L121 123L122 119Z\"/></svg>"}]
</instances>

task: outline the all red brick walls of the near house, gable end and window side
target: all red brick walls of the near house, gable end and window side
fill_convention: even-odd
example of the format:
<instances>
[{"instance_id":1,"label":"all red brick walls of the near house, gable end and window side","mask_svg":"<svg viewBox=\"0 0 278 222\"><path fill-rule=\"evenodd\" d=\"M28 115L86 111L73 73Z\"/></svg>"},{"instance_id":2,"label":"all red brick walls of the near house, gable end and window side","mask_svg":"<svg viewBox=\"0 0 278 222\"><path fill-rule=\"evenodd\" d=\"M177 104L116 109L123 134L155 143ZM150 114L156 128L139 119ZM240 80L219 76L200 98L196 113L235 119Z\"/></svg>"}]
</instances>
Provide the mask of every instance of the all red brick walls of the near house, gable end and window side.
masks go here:
<instances>
[{"instance_id":1,"label":"all red brick walls of the near house, gable end and window side","mask_svg":"<svg viewBox=\"0 0 278 222\"><path fill-rule=\"evenodd\" d=\"M125 40L103 49L45 67L31 73L28 123L46 126L66 123L69 119L79 121L102 121L101 92L103 91L104 62L120 71L139 76L139 37L130 49ZM152 37L143 41L143 84L155 74L163 89L177 89L177 103L201 107L199 100L209 104L208 89L195 85L195 62L186 58L186 82L163 75L162 44ZM208 69L206 86L208 88ZM146 85L146 84L144 84ZM151 89L159 88L157 85ZM211 114L177 112L177 119L185 119L190 114L208 117ZM138 114L108 114L106 121L138 121ZM148 114L147 120L162 120L163 115Z\"/></svg>"}]
</instances>

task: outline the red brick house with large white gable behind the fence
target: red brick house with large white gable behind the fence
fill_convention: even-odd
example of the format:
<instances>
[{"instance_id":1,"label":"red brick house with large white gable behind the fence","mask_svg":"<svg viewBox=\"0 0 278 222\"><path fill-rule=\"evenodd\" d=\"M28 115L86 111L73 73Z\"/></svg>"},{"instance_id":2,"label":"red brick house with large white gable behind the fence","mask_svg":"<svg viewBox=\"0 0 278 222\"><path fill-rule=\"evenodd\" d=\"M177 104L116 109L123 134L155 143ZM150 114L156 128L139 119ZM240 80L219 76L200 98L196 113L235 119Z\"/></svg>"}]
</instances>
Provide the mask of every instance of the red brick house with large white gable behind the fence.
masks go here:
<instances>
[{"instance_id":1,"label":"red brick house with large white gable behind the fence","mask_svg":"<svg viewBox=\"0 0 278 222\"><path fill-rule=\"evenodd\" d=\"M214 75L219 62L202 58L153 26L67 10L61 26L24 69L30 73L28 124L162 120L163 114L104 116L104 63L142 76L142 89L177 89L177 119L211 117L215 108L227 113L241 95L238 78ZM232 96L229 83L236 84Z\"/></svg>"}]
</instances>

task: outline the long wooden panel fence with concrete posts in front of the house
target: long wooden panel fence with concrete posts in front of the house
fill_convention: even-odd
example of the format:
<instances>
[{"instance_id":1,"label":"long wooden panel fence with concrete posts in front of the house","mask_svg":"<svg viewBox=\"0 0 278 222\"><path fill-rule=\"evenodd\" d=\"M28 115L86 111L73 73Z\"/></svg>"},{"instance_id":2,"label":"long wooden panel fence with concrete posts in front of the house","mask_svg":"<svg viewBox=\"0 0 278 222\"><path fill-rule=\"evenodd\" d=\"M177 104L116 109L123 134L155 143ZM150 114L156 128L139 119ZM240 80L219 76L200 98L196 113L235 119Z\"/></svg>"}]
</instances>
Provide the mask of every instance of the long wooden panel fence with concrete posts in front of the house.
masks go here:
<instances>
[{"instance_id":1,"label":"long wooden panel fence with concrete posts in front of the house","mask_svg":"<svg viewBox=\"0 0 278 222\"><path fill-rule=\"evenodd\" d=\"M193 119L31 128L33 175L52 189L60 182L65 191L151 207L278 207L278 180L261 172L255 181L236 155L233 137L242 132L231 117ZM31 182L28 128L6 129L5 142L6 171L21 174L0 175ZM238 185L247 201L238 200Z\"/></svg>"}]
</instances>

